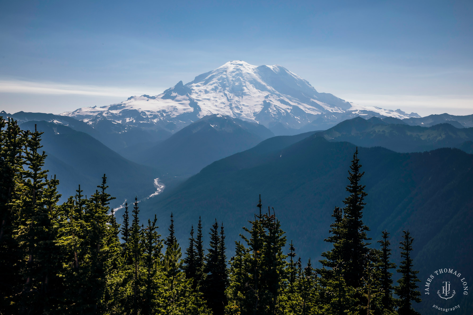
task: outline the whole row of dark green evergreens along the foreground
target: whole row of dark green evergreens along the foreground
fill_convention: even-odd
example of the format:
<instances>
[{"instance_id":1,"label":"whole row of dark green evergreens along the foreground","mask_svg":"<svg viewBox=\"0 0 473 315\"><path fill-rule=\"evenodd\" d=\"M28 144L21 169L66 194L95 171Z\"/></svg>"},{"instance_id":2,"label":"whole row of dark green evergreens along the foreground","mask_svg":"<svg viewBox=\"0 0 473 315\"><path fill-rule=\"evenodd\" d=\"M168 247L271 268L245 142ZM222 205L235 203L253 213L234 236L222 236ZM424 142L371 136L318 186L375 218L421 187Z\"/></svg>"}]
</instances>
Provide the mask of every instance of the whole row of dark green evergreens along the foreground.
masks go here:
<instances>
[{"instance_id":1,"label":"whole row of dark green evergreens along the foreground","mask_svg":"<svg viewBox=\"0 0 473 315\"><path fill-rule=\"evenodd\" d=\"M60 204L59 180L43 169L41 134L0 117L0 314L385 315L418 314L413 238L403 232L402 262L391 262L389 233L372 245L362 221L365 186L358 150L349 196L333 210L320 268L287 244L274 209L257 213L227 257L223 224L204 244L202 222L184 251L171 214L166 237L125 203L118 224L105 175L88 197ZM287 252L287 253L285 253ZM393 272L400 279L394 285Z\"/></svg>"}]
</instances>

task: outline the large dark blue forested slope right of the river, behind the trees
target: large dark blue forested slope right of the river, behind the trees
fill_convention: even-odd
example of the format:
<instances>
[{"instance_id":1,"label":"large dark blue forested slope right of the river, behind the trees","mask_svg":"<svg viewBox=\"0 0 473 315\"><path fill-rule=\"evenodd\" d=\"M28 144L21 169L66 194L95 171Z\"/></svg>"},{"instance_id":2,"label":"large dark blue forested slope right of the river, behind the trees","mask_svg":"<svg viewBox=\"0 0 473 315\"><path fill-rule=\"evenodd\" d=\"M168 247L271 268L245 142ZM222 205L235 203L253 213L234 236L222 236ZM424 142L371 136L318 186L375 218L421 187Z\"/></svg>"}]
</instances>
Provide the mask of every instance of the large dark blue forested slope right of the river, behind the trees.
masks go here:
<instances>
[{"instance_id":1,"label":"large dark blue forested slope right of the river, behind the trees","mask_svg":"<svg viewBox=\"0 0 473 315\"><path fill-rule=\"evenodd\" d=\"M167 220L173 211L175 222L184 227L178 231L180 239L187 238L188 228L199 216L208 224L218 218L230 244L253 217L261 193L263 205L274 207L298 253L316 261L329 247L323 240L333 220L333 207L343 206L347 195L346 177L356 147L309 136L259 154L264 142L205 167L173 192L149 203L149 212L143 216L156 211L161 220ZM359 158L368 193L363 220L371 228L368 235L374 238L373 246L387 229L399 263L395 244L402 230L409 229L421 278L449 263L440 254L445 251L457 253L455 268L467 270L473 253L462 244L473 241L473 221L468 215L473 205L473 155L447 148L396 153L375 147L359 148ZM463 218L461 230L445 228L459 224L458 218Z\"/></svg>"}]
</instances>

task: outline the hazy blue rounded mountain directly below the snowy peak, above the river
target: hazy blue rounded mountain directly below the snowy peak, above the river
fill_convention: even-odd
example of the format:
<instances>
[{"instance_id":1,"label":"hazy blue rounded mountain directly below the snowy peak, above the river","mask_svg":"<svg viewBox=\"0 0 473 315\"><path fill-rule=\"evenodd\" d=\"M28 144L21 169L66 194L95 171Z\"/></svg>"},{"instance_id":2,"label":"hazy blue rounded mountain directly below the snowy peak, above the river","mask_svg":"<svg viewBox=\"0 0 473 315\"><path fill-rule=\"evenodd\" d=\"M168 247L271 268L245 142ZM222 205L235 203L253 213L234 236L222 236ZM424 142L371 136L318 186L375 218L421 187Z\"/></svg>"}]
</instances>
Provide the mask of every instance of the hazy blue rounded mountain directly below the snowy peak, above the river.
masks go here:
<instances>
[{"instance_id":1,"label":"hazy blue rounded mountain directly below the snowy peak, above the river","mask_svg":"<svg viewBox=\"0 0 473 315\"><path fill-rule=\"evenodd\" d=\"M168 176L193 175L223 157L254 147L274 136L263 125L224 115L206 116L146 150L143 163Z\"/></svg>"}]
</instances>

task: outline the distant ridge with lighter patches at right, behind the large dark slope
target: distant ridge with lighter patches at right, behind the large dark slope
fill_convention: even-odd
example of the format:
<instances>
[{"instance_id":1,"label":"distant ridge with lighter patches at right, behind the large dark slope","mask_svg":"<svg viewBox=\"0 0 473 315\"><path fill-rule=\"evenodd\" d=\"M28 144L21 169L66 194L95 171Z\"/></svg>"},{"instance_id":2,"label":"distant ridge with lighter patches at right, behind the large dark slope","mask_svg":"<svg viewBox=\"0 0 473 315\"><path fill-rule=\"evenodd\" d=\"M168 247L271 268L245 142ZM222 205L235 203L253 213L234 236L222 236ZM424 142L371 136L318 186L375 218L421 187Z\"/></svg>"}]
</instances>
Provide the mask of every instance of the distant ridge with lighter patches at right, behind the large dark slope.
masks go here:
<instances>
[{"instance_id":1,"label":"distant ridge with lighter patches at right, behind the large dark slope","mask_svg":"<svg viewBox=\"0 0 473 315\"><path fill-rule=\"evenodd\" d=\"M460 148L465 141L473 140L473 128L458 129L449 123L431 127L410 126L392 119L356 117L317 132L317 135L328 141L348 141L363 147L380 146L397 152Z\"/></svg>"}]
</instances>

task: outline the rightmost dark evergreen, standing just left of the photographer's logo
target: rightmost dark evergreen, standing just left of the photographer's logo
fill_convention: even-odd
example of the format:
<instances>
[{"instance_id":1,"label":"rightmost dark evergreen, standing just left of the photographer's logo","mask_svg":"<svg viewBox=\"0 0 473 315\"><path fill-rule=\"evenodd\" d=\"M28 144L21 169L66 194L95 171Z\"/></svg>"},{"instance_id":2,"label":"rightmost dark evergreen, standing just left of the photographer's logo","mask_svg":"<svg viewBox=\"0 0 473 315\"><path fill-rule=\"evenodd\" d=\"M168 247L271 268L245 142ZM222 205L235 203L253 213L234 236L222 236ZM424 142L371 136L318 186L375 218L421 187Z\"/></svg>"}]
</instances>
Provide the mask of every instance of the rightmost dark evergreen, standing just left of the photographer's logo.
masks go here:
<instances>
[{"instance_id":1,"label":"rightmost dark evergreen, standing just left of the photographer's logo","mask_svg":"<svg viewBox=\"0 0 473 315\"><path fill-rule=\"evenodd\" d=\"M412 242L414 239L411 237L409 231L403 231L403 241L400 242L399 248L401 251L401 257L404 259L399 266L397 272L401 274L401 278L397 280L399 283L395 287L394 293L399 296L397 305L399 306L397 312L399 315L414 315L419 314L412 308L412 302L420 303L420 292L416 289L419 286L416 282L420 282L417 278L419 271L415 271L412 265Z\"/></svg>"}]
</instances>

